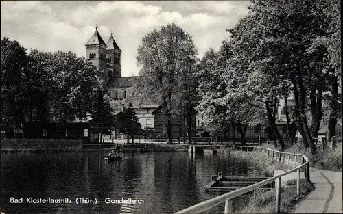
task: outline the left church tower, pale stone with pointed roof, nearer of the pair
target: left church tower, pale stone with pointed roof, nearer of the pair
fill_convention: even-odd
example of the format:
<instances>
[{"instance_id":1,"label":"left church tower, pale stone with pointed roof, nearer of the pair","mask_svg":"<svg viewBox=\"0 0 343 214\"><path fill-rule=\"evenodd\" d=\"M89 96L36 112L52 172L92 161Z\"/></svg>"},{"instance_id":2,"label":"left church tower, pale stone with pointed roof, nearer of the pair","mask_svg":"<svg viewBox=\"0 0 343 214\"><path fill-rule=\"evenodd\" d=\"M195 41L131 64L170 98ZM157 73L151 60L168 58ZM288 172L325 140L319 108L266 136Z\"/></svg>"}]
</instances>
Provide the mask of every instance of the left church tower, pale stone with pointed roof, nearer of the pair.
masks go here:
<instances>
[{"instance_id":1,"label":"left church tower, pale stone with pointed roof, nearer of the pair","mask_svg":"<svg viewBox=\"0 0 343 214\"><path fill-rule=\"evenodd\" d=\"M107 82L106 48L107 45L96 27L93 36L86 43L86 59L89 59L99 69L99 80Z\"/></svg>"}]
</instances>

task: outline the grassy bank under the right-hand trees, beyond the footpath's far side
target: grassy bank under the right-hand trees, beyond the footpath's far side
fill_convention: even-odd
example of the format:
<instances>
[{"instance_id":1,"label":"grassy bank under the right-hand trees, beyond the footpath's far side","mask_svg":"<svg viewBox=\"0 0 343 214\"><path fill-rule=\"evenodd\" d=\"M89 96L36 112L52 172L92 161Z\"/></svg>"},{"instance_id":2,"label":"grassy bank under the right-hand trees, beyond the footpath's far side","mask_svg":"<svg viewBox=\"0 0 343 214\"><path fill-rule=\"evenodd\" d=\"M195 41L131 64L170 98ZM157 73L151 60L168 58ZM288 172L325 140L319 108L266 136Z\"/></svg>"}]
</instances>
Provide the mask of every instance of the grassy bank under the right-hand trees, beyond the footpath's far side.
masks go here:
<instances>
[{"instance_id":1,"label":"grassy bank under the right-hand trees, beyond the footpath's far side","mask_svg":"<svg viewBox=\"0 0 343 214\"><path fill-rule=\"evenodd\" d=\"M263 146L275 149L272 144ZM281 148L278 147L276 150L281 150ZM306 155L309 158L309 165L318 170L342 171L342 147L335 148L333 151L331 148L325 148L323 152L317 148L316 154L312 155L311 150L305 149L303 143L297 143L286 147L285 152Z\"/></svg>"}]
</instances>

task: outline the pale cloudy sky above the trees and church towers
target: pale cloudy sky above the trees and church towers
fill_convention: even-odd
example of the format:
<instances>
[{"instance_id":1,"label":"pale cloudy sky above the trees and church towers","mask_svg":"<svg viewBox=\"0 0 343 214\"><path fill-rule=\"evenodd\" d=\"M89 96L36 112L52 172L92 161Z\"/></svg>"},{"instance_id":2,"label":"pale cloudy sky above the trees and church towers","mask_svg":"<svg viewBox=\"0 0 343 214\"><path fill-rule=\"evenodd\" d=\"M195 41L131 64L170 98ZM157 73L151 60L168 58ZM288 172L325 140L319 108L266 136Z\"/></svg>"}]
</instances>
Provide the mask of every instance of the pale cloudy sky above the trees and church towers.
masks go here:
<instances>
[{"instance_id":1,"label":"pale cloudy sky above the trees and church towers","mask_svg":"<svg viewBox=\"0 0 343 214\"><path fill-rule=\"evenodd\" d=\"M113 37L121 51L121 75L137 75L137 48L154 28L168 23L185 29L198 49L217 50L226 29L248 14L249 1L1 1L1 37L27 49L71 51L86 56L84 44L98 25L105 42Z\"/></svg>"}]
</instances>

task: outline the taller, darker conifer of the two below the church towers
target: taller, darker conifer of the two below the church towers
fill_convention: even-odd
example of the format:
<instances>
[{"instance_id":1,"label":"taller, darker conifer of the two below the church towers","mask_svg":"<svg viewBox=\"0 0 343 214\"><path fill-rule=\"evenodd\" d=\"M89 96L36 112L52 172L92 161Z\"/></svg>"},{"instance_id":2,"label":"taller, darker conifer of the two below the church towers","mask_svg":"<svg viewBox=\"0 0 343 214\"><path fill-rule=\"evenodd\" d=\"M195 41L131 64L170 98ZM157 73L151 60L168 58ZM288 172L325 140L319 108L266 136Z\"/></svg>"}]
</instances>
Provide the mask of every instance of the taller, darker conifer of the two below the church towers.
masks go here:
<instances>
[{"instance_id":1,"label":"taller, darker conifer of the two below the church towers","mask_svg":"<svg viewBox=\"0 0 343 214\"><path fill-rule=\"evenodd\" d=\"M91 111L91 120L89 124L91 131L97 134L98 142L103 142L103 137L109 135L108 130L112 129L115 125L115 116L110 104L104 99L102 90L97 92L96 100Z\"/></svg>"}]
</instances>

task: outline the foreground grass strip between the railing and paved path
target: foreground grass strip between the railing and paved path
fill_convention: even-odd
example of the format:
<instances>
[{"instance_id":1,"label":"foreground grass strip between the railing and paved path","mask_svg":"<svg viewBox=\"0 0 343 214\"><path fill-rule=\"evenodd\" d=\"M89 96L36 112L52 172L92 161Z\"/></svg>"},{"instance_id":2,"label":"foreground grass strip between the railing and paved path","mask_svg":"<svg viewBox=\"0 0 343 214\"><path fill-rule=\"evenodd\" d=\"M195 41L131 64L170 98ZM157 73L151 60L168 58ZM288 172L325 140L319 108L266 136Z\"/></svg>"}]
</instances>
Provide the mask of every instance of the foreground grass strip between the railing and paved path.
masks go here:
<instances>
[{"instance_id":1,"label":"foreground grass strip between the railing and paved path","mask_svg":"<svg viewBox=\"0 0 343 214\"><path fill-rule=\"evenodd\" d=\"M300 196L296 195L296 179L289 180L285 187L281 187L280 213L290 213L295 205L303 200L311 191L314 184L306 179L300 180ZM242 206L235 213L275 213L276 190L257 189L248 198L247 205Z\"/></svg>"}]
</instances>

